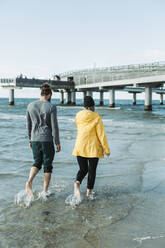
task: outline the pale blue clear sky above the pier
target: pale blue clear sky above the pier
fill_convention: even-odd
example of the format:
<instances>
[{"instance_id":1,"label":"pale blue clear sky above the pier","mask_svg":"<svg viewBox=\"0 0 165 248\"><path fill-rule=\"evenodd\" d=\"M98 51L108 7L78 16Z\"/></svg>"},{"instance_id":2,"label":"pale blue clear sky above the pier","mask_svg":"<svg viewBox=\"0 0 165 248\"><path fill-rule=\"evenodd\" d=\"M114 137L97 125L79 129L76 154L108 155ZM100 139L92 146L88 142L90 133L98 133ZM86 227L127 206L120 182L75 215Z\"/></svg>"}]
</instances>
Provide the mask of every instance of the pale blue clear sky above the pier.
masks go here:
<instances>
[{"instance_id":1,"label":"pale blue clear sky above the pier","mask_svg":"<svg viewBox=\"0 0 165 248\"><path fill-rule=\"evenodd\" d=\"M0 0L0 78L165 61L164 12L164 0Z\"/></svg>"}]
</instances>

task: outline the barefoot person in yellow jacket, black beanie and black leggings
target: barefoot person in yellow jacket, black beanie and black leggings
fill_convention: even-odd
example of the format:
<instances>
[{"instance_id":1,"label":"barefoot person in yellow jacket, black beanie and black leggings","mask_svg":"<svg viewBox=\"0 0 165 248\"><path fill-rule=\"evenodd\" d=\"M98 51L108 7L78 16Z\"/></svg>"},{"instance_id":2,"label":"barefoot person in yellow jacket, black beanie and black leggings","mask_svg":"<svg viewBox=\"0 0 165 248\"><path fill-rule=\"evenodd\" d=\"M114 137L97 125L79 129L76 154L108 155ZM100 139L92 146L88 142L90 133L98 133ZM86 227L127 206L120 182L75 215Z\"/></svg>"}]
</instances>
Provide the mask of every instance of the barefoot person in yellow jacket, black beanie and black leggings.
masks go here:
<instances>
[{"instance_id":1,"label":"barefoot person in yellow jacket, black beanie and black leggings","mask_svg":"<svg viewBox=\"0 0 165 248\"><path fill-rule=\"evenodd\" d=\"M79 171L74 184L74 195L80 198L80 184L88 173L87 197L92 193L95 183L96 168L99 158L104 153L109 156L110 150L104 132L104 125L100 115L95 111L95 103L91 96L84 98L84 110L76 115L75 125L77 126L77 138L73 150L77 157Z\"/></svg>"}]
</instances>

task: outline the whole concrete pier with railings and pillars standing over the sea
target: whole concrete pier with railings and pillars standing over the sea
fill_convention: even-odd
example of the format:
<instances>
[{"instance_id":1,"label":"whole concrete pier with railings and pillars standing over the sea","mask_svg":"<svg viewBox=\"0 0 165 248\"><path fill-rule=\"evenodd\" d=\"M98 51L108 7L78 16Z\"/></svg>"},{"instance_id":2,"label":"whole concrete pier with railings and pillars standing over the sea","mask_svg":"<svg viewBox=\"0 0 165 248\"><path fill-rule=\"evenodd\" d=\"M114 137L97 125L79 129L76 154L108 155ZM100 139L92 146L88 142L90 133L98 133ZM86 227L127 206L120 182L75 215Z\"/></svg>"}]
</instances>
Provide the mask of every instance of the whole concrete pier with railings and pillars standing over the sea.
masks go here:
<instances>
[{"instance_id":1,"label":"whole concrete pier with railings and pillars standing over the sea","mask_svg":"<svg viewBox=\"0 0 165 248\"><path fill-rule=\"evenodd\" d=\"M29 79L17 77L15 79L0 79L0 86L9 89L9 104L14 105L14 89L40 88L48 82L52 90L60 93L60 104L75 105L76 92L83 92L83 96L99 92L100 105L104 104L104 92L109 92L109 107L115 107L115 92L127 91L132 94L132 104L136 105L136 95L145 93L144 110L152 110L152 93L160 95L163 104L165 94L165 62L150 64L134 64L77 70L60 74L61 80Z\"/></svg>"}]
</instances>

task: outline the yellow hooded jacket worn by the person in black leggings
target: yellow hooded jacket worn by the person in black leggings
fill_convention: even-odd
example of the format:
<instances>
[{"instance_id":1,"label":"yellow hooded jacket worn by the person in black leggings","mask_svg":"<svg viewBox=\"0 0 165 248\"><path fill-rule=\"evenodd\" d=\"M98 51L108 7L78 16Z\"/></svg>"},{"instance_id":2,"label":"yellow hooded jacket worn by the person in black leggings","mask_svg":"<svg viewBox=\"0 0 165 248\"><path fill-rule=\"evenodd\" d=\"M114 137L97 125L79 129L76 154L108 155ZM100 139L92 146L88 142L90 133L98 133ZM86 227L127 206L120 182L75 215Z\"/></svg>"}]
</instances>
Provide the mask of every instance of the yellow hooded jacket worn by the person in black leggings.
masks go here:
<instances>
[{"instance_id":1,"label":"yellow hooded jacket worn by the person in black leggings","mask_svg":"<svg viewBox=\"0 0 165 248\"><path fill-rule=\"evenodd\" d=\"M86 158L103 158L110 153L104 125L100 115L90 110L77 113L77 138L72 155Z\"/></svg>"}]
</instances>

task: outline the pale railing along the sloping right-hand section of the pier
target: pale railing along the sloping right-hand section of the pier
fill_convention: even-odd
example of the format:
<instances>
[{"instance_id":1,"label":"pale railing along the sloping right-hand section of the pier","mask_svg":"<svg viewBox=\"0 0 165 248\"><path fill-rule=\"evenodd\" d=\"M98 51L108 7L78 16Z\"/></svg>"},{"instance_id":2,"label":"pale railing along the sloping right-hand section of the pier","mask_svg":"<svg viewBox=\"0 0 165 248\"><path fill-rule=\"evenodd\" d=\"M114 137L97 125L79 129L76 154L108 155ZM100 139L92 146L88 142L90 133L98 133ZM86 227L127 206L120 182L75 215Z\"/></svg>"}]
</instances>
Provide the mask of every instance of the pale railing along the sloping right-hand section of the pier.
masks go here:
<instances>
[{"instance_id":1,"label":"pale railing along the sloping right-hand section of the pier","mask_svg":"<svg viewBox=\"0 0 165 248\"><path fill-rule=\"evenodd\" d=\"M74 77L75 85L108 82L138 77L165 75L165 62L132 64L124 66L101 67L75 70L62 73L61 78Z\"/></svg>"}]
</instances>

